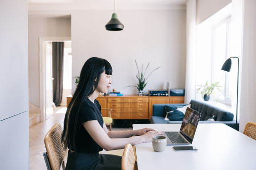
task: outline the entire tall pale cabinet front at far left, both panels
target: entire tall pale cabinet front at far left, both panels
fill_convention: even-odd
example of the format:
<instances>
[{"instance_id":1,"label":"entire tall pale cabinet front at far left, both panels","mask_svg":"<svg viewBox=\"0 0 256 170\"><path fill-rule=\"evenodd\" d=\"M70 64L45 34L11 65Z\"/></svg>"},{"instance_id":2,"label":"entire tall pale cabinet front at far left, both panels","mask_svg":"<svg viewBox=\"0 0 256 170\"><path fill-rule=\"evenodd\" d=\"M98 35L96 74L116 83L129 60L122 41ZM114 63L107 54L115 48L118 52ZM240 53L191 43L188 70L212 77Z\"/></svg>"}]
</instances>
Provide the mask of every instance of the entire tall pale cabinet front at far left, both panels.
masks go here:
<instances>
[{"instance_id":1,"label":"entire tall pale cabinet front at far left, both panels","mask_svg":"<svg viewBox=\"0 0 256 170\"><path fill-rule=\"evenodd\" d=\"M0 2L0 169L29 169L27 0Z\"/></svg>"}]
</instances>

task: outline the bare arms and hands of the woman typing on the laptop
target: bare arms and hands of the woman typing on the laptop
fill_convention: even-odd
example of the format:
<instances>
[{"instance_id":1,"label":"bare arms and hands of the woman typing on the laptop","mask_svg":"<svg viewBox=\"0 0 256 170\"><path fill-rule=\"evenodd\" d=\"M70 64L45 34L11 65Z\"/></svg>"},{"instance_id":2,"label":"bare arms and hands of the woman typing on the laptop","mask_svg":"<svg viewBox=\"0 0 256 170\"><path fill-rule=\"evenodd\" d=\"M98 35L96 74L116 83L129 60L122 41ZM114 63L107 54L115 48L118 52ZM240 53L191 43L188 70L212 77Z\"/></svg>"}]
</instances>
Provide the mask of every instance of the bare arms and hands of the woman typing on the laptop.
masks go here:
<instances>
[{"instance_id":1,"label":"bare arms and hands of the woman typing on the laptop","mask_svg":"<svg viewBox=\"0 0 256 170\"><path fill-rule=\"evenodd\" d=\"M162 132L158 131L147 131L141 136L134 136L129 138L110 138L111 135L113 136L132 136L134 131L128 130L127 132L121 133L113 133L110 136L106 133L106 125L104 129L101 127L97 120L91 120L83 123L83 127L86 128L88 133L92 136L92 138L105 150L113 150L113 149L122 149L125 147L127 143L131 143L132 145L149 142L152 141L152 137L155 135L160 135ZM135 131L136 132L136 131Z\"/></svg>"}]
</instances>

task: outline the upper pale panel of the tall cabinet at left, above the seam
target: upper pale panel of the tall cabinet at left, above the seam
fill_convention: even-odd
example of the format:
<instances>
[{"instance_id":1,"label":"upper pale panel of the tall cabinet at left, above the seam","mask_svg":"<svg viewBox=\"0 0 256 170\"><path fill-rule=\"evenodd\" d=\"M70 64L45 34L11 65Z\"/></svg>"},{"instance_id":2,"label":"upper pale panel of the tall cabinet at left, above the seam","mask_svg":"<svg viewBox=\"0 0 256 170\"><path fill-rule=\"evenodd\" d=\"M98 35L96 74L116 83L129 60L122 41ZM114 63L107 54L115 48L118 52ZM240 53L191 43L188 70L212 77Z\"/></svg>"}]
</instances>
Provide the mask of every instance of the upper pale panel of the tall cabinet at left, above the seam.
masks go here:
<instances>
[{"instance_id":1,"label":"upper pale panel of the tall cabinet at left, above the seam","mask_svg":"<svg viewBox=\"0 0 256 170\"><path fill-rule=\"evenodd\" d=\"M0 1L0 120L28 110L27 1Z\"/></svg>"}]
</instances>

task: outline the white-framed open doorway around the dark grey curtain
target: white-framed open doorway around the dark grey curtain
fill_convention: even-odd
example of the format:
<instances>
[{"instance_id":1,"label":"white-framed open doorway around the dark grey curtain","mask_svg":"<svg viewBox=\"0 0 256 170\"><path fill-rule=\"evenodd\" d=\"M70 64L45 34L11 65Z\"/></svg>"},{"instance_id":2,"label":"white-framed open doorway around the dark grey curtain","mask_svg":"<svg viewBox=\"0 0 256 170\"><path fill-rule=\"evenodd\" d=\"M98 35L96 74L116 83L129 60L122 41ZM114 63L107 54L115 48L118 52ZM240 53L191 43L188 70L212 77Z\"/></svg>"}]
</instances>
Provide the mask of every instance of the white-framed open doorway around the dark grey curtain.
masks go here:
<instances>
[{"instance_id":1,"label":"white-framed open doorway around the dark grey curtain","mask_svg":"<svg viewBox=\"0 0 256 170\"><path fill-rule=\"evenodd\" d=\"M48 119L53 114L52 88L52 42L64 42L64 73L61 106L66 107L66 96L71 94L72 55L71 38L39 38L40 51L40 121Z\"/></svg>"}]
</instances>

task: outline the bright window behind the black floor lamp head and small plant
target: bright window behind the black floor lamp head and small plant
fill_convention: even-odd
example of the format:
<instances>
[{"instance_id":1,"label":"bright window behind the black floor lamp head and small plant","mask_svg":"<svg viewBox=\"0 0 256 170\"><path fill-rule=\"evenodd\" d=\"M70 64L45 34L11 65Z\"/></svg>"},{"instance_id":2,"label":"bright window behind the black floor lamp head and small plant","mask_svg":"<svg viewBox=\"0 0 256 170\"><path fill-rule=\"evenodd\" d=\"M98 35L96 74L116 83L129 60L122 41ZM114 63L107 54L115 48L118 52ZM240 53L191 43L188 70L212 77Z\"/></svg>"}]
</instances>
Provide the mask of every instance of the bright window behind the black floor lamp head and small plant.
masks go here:
<instances>
[{"instance_id":1,"label":"bright window behind the black floor lamp head and small plant","mask_svg":"<svg viewBox=\"0 0 256 170\"><path fill-rule=\"evenodd\" d=\"M221 70L222 65L230 57L231 17L212 26L212 69L211 81L220 82L222 91L215 90L219 102L231 105L231 88L229 74Z\"/></svg>"}]
</instances>

